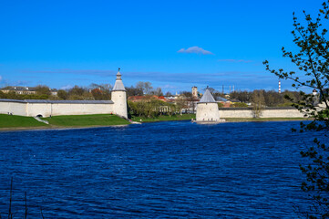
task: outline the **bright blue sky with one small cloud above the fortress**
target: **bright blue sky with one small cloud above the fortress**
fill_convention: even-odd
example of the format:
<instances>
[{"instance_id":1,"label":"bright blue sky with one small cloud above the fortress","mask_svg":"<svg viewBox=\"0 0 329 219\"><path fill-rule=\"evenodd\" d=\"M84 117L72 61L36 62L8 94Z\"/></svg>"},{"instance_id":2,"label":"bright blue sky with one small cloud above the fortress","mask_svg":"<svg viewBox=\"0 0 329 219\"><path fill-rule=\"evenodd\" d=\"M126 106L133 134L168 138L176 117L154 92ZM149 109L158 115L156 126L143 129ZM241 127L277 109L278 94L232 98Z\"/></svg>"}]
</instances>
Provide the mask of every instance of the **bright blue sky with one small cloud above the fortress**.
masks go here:
<instances>
[{"instance_id":1,"label":"bright blue sky with one small cloud above the fortress","mask_svg":"<svg viewBox=\"0 0 329 219\"><path fill-rule=\"evenodd\" d=\"M1 1L0 87L70 88L149 81L176 92L277 89L265 71L294 69L293 11L303 20L320 0ZM291 83L282 81L283 89Z\"/></svg>"}]
</instances>

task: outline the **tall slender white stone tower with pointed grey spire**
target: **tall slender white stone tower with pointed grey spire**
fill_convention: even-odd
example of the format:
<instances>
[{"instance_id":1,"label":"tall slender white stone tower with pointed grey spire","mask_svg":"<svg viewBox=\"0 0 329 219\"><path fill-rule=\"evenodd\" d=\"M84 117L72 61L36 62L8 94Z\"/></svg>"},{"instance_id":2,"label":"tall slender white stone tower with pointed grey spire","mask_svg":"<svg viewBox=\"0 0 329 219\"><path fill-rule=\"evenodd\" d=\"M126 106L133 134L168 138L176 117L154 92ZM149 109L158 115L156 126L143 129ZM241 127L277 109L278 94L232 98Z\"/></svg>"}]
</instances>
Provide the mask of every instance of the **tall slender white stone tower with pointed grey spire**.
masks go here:
<instances>
[{"instance_id":1,"label":"tall slender white stone tower with pointed grey spire","mask_svg":"<svg viewBox=\"0 0 329 219\"><path fill-rule=\"evenodd\" d=\"M111 99L114 102L113 112L120 117L128 119L127 91L122 83L120 68L118 68L117 79L112 89L111 96Z\"/></svg>"}]
</instances>

